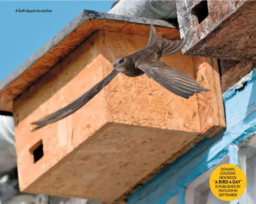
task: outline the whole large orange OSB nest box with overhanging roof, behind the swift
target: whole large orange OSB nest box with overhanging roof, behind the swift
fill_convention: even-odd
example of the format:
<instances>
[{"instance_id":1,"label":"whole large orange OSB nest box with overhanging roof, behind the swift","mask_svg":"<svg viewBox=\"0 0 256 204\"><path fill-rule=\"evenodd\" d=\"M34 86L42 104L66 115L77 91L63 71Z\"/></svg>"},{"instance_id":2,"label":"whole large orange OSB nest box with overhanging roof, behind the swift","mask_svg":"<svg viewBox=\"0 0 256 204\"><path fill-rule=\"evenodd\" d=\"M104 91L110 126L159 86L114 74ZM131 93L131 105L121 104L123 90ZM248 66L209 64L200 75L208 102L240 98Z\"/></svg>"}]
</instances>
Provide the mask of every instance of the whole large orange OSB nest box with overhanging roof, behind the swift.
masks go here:
<instances>
[{"instance_id":1,"label":"whole large orange OSB nest box with overhanging roof, behind the swift","mask_svg":"<svg viewBox=\"0 0 256 204\"><path fill-rule=\"evenodd\" d=\"M146 75L118 74L84 107L31 132L33 122L80 97L112 61L145 47L166 21L84 10L0 84L0 109L15 120L20 190L113 202L151 179L202 138L225 127L215 59L164 57L211 92L178 97Z\"/></svg>"}]
</instances>

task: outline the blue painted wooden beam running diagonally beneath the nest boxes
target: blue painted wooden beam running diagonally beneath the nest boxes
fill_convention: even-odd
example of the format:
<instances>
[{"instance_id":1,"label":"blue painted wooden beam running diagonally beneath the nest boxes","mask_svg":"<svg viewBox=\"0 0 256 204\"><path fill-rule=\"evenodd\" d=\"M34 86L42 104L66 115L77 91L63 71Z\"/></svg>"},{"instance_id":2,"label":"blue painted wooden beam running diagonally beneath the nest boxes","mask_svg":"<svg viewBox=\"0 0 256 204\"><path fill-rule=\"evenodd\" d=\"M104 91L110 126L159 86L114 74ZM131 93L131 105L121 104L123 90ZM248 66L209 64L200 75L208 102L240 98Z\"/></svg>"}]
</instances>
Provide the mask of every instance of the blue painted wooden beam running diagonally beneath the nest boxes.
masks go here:
<instances>
[{"instance_id":1,"label":"blue painted wooden beam running diagonally beneath the nest boxes","mask_svg":"<svg viewBox=\"0 0 256 204\"><path fill-rule=\"evenodd\" d=\"M223 93L223 101L226 129L219 133L223 137L203 139L130 195L128 204L164 204L177 193L178 203L184 204L184 187L226 155L238 165L236 145L256 132L256 70Z\"/></svg>"}]
</instances>

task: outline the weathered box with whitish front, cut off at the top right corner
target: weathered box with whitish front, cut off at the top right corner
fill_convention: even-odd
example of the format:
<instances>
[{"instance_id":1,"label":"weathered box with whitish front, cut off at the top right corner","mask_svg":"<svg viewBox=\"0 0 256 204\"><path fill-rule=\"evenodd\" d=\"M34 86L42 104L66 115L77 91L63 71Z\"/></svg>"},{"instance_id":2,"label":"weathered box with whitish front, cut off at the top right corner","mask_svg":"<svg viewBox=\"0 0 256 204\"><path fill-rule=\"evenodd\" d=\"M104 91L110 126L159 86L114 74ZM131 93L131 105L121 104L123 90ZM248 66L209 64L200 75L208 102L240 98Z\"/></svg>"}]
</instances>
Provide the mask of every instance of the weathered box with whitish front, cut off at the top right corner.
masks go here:
<instances>
[{"instance_id":1,"label":"weathered box with whitish front, cut off at the top right corner","mask_svg":"<svg viewBox=\"0 0 256 204\"><path fill-rule=\"evenodd\" d=\"M256 62L256 1L207 1L209 15L199 24L193 9L201 2L176 1L181 37L189 34L182 52Z\"/></svg>"}]
</instances>

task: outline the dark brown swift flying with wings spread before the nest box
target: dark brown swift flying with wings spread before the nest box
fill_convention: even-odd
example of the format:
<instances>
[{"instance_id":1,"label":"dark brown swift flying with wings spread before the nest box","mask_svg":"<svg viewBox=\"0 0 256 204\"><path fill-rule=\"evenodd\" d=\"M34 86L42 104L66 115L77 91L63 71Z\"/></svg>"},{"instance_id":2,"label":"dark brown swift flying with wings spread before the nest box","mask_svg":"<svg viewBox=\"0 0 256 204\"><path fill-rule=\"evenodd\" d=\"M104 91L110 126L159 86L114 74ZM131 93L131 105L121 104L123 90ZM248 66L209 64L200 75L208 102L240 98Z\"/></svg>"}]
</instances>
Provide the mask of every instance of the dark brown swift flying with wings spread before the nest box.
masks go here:
<instances>
[{"instance_id":1,"label":"dark brown swift flying with wings spread before the nest box","mask_svg":"<svg viewBox=\"0 0 256 204\"><path fill-rule=\"evenodd\" d=\"M66 107L32 122L31 124L37 125L32 131L59 121L76 112L100 92L103 87L107 86L119 72L129 77L137 77L145 73L149 78L154 79L154 81L158 82L170 92L184 98L189 98L194 93L210 91L209 89L200 87L193 78L183 71L167 66L164 61L160 60L162 56L173 55L180 51L187 40L187 35L177 41L168 41L163 37L158 37L154 26L151 25L148 46L131 55L121 56L115 59L113 61L114 69L108 76Z\"/></svg>"}]
</instances>

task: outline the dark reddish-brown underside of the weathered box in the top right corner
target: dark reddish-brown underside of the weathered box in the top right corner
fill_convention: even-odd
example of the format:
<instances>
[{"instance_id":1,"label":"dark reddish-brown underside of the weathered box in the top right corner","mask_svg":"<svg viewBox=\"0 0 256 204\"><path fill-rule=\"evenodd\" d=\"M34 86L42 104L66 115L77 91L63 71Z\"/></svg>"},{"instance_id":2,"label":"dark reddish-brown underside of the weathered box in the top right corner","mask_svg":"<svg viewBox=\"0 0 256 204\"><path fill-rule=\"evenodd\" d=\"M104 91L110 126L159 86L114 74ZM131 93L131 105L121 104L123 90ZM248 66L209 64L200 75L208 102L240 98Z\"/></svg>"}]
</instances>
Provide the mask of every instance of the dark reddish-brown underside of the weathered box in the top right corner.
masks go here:
<instances>
[{"instance_id":1,"label":"dark reddish-brown underside of the weathered box in the top right corner","mask_svg":"<svg viewBox=\"0 0 256 204\"><path fill-rule=\"evenodd\" d=\"M216 58L256 62L256 1L243 7L237 11L239 16L223 27L200 52Z\"/></svg>"}]
</instances>

